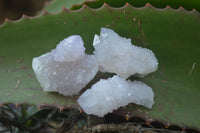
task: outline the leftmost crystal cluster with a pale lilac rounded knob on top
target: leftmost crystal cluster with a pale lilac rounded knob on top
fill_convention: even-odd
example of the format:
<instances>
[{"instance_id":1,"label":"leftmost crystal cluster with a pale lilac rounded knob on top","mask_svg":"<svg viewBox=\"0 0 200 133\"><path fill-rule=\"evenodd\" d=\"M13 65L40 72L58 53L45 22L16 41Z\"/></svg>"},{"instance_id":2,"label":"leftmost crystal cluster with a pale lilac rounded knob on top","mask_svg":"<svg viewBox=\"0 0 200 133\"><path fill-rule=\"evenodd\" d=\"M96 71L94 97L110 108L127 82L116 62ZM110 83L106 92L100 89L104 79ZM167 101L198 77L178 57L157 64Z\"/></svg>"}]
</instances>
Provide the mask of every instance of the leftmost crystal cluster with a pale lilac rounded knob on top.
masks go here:
<instances>
[{"instance_id":1,"label":"leftmost crystal cluster with a pale lilac rounded knob on top","mask_svg":"<svg viewBox=\"0 0 200 133\"><path fill-rule=\"evenodd\" d=\"M78 35L64 39L51 52L33 58L32 67L44 91L65 96L77 94L98 71L94 55L85 54Z\"/></svg>"}]
</instances>

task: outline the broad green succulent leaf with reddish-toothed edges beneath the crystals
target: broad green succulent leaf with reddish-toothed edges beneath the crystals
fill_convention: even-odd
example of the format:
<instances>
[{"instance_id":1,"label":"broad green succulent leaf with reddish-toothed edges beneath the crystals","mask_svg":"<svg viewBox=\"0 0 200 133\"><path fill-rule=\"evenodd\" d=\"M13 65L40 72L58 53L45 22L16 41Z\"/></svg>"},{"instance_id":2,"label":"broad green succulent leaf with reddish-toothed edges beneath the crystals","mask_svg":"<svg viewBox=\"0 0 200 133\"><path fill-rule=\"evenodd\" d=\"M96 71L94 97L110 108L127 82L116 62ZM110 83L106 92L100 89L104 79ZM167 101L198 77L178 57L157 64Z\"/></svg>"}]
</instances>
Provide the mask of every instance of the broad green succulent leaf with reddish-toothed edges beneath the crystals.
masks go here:
<instances>
[{"instance_id":1,"label":"broad green succulent leaf with reddish-toothed edges beneath the crystals","mask_svg":"<svg viewBox=\"0 0 200 133\"><path fill-rule=\"evenodd\" d=\"M6 22L0 27L0 103L80 108L76 97L43 92L31 68L40 56L69 35L79 34L92 53L94 34L101 27L131 38L135 45L153 50L159 68L142 80L155 92L151 110L130 104L115 113L131 118L163 120L198 127L200 123L200 15L184 9L84 8Z\"/></svg>"}]
</instances>

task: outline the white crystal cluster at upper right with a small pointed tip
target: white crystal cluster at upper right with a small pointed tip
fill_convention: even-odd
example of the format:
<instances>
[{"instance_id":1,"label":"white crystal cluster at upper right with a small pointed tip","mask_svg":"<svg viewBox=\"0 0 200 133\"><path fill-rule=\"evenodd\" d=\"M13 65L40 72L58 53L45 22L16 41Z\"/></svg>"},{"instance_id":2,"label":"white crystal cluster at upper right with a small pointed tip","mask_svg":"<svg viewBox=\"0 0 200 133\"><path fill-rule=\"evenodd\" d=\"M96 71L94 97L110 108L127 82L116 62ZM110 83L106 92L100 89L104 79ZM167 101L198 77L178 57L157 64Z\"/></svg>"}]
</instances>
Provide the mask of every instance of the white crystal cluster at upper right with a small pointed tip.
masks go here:
<instances>
[{"instance_id":1,"label":"white crystal cluster at upper right with a small pointed tip","mask_svg":"<svg viewBox=\"0 0 200 133\"><path fill-rule=\"evenodd\" d=\"M151 50L132 45L131 39L120 37L111 29L101 28L100 36L94 37L93 46L102 72L116 73L123 78L143 77L158 67Z\"/></svg>"}]
</instances>

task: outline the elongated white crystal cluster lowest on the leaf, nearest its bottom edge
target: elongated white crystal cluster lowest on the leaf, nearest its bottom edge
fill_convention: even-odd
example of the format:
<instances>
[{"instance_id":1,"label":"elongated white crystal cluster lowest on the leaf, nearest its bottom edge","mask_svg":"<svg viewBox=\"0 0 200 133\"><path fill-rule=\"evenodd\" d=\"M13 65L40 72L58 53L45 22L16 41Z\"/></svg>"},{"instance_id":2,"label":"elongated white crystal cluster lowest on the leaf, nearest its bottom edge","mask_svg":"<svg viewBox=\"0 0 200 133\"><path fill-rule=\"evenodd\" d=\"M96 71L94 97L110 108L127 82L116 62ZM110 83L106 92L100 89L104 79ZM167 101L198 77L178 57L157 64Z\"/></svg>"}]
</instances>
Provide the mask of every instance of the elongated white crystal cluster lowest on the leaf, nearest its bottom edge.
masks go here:
<instances>
[{"instance_id":1,"label":"elongated white crystal cluster lowest on the leaf, nearest its bottom edge","mask_svg":"<svg viewBox=\"0 0 200 133\"><path fill-rule=\"evenodd\" d=\"M78 103L87 114L103 117L129 103L152 108L153 98L151 87L141 81L126 81L114 76L98 81L79 97Z\"/></svg>"}]
</instances>

